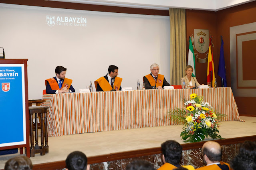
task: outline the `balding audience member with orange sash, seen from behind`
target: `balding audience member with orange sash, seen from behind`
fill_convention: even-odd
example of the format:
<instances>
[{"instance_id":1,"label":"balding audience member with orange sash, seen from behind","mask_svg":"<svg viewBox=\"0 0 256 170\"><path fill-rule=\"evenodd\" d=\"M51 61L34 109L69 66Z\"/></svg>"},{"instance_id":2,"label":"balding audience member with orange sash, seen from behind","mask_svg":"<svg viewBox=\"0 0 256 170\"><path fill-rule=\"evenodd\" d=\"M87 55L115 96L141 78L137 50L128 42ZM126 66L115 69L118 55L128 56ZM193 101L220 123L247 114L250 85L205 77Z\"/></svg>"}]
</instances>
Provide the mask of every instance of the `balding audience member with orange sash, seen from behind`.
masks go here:
<instances>
[{"instance_id":1,"label":"balding audience member with orange sash, seen from behind","mask_svg":"<svg viewBox=\"0 0 256 170\"><path fill-rule=\"evenodd\" d=\"M230 170L230 165L221 162L222 149L220 144L214 141L205 142L202 147L203 160L206 166L196 170Z\"/></svg>"}]
</instances>

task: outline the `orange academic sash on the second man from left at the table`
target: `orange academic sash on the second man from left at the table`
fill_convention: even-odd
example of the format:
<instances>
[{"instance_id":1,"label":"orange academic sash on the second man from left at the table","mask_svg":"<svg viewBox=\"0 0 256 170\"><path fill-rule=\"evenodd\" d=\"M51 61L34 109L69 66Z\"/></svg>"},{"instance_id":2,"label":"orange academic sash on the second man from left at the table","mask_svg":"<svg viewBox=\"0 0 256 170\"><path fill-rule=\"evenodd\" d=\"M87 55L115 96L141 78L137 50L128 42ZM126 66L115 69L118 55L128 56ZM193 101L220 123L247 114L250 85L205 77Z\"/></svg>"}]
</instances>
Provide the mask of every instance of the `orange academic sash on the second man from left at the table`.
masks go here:
<instances>
[{"instance_id":1,"label":"orange academic sash on the second man from left at the table","mask_svg":"<svg viewBox=\"0 0 256 170\"><path fill-rule=\"evenodd\" d=\"M114 85L113 85L115 90L120 89L122 80L123 79L120 77L115 77L115 81L114 81ZM101 78L97 79L96 81L94 81L94 84L95 84L96 89L97 89L97 85L99 84L103 91L111 91L112 90L112 87L109 84L109 81L107 81L107 79L105 79L105 77L101 77Z\"/></svg>"}]
</instances>

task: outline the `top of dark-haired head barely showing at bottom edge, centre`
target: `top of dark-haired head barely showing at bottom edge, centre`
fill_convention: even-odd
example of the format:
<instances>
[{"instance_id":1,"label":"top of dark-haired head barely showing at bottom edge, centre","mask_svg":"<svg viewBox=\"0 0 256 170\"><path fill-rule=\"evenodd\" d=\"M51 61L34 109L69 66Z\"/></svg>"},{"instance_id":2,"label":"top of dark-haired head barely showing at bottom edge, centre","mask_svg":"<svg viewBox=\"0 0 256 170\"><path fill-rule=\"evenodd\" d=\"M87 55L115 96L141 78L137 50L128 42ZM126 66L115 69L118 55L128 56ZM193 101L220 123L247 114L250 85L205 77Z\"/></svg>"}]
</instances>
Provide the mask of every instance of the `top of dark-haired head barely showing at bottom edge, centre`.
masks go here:
<instances>
[{"instance_id":1,"label":"top of dark-haired head barely showing at bottom edge, centre","mask_svg":"<svg viewBox=\"0 0 256 170\"><path fill-rule=\"evenodd\" d=\"M134 160L126 166L126 170L155 170L155 168L146 160Z\"/></svg>"}]
</instances>

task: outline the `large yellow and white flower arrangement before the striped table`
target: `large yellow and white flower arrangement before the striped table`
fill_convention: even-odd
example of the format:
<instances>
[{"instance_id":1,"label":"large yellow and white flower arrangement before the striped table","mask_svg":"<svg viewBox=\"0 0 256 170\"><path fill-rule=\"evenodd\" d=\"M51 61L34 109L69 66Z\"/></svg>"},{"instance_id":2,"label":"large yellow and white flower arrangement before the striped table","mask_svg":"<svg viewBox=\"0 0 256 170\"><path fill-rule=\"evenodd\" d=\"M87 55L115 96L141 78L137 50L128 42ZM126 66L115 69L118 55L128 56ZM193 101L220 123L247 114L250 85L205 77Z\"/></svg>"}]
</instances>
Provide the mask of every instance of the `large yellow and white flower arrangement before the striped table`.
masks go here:
<instances>
[{"instance_id":1,"label":"large yellow and white flower arrangement before the striped table","mask_svg":"<svg viewBox=\"0 0 256 170\"><path fill-rule=\"evenodd\" d=\"M219 132L219 120L226 115L216 113L212 106L195 93L190 100L184 100L185 109L175 108L169 112L171 121L183 124L180 136L184 142L200 142L205 137L223 139Z\"/></svg>"}]
</instances>

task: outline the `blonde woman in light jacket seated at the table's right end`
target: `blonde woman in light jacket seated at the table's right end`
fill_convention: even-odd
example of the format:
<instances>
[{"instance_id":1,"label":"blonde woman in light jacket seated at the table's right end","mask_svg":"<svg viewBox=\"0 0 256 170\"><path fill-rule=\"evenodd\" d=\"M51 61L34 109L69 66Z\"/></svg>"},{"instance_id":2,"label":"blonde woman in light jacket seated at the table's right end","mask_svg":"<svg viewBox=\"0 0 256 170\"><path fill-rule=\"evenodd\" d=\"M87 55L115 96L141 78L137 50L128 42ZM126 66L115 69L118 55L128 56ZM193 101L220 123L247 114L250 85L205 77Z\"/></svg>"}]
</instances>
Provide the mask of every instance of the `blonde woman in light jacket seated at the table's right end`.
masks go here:
<instances>
[{"instance_id":1,"label":"blonde woman in light jacket seated at the table's right end","mask_svg":"<svg viewBox=\"0 0 256 170\"><path fill-rule=\"evenodd\" d=\"M185 85L187 85L187 83L189 83L190 88L195 87L195 85L196 85L196 87L200 86L200 84L196 80L196 77L192 76L192 73L193 73L193 67L191 65L188 65L185 69L185 77L182 77L180 79L180 84L182 85L183 80L185 80ZM202 84L202 85L204 85L204 84Z\"/></svg>"}]
</instances>

